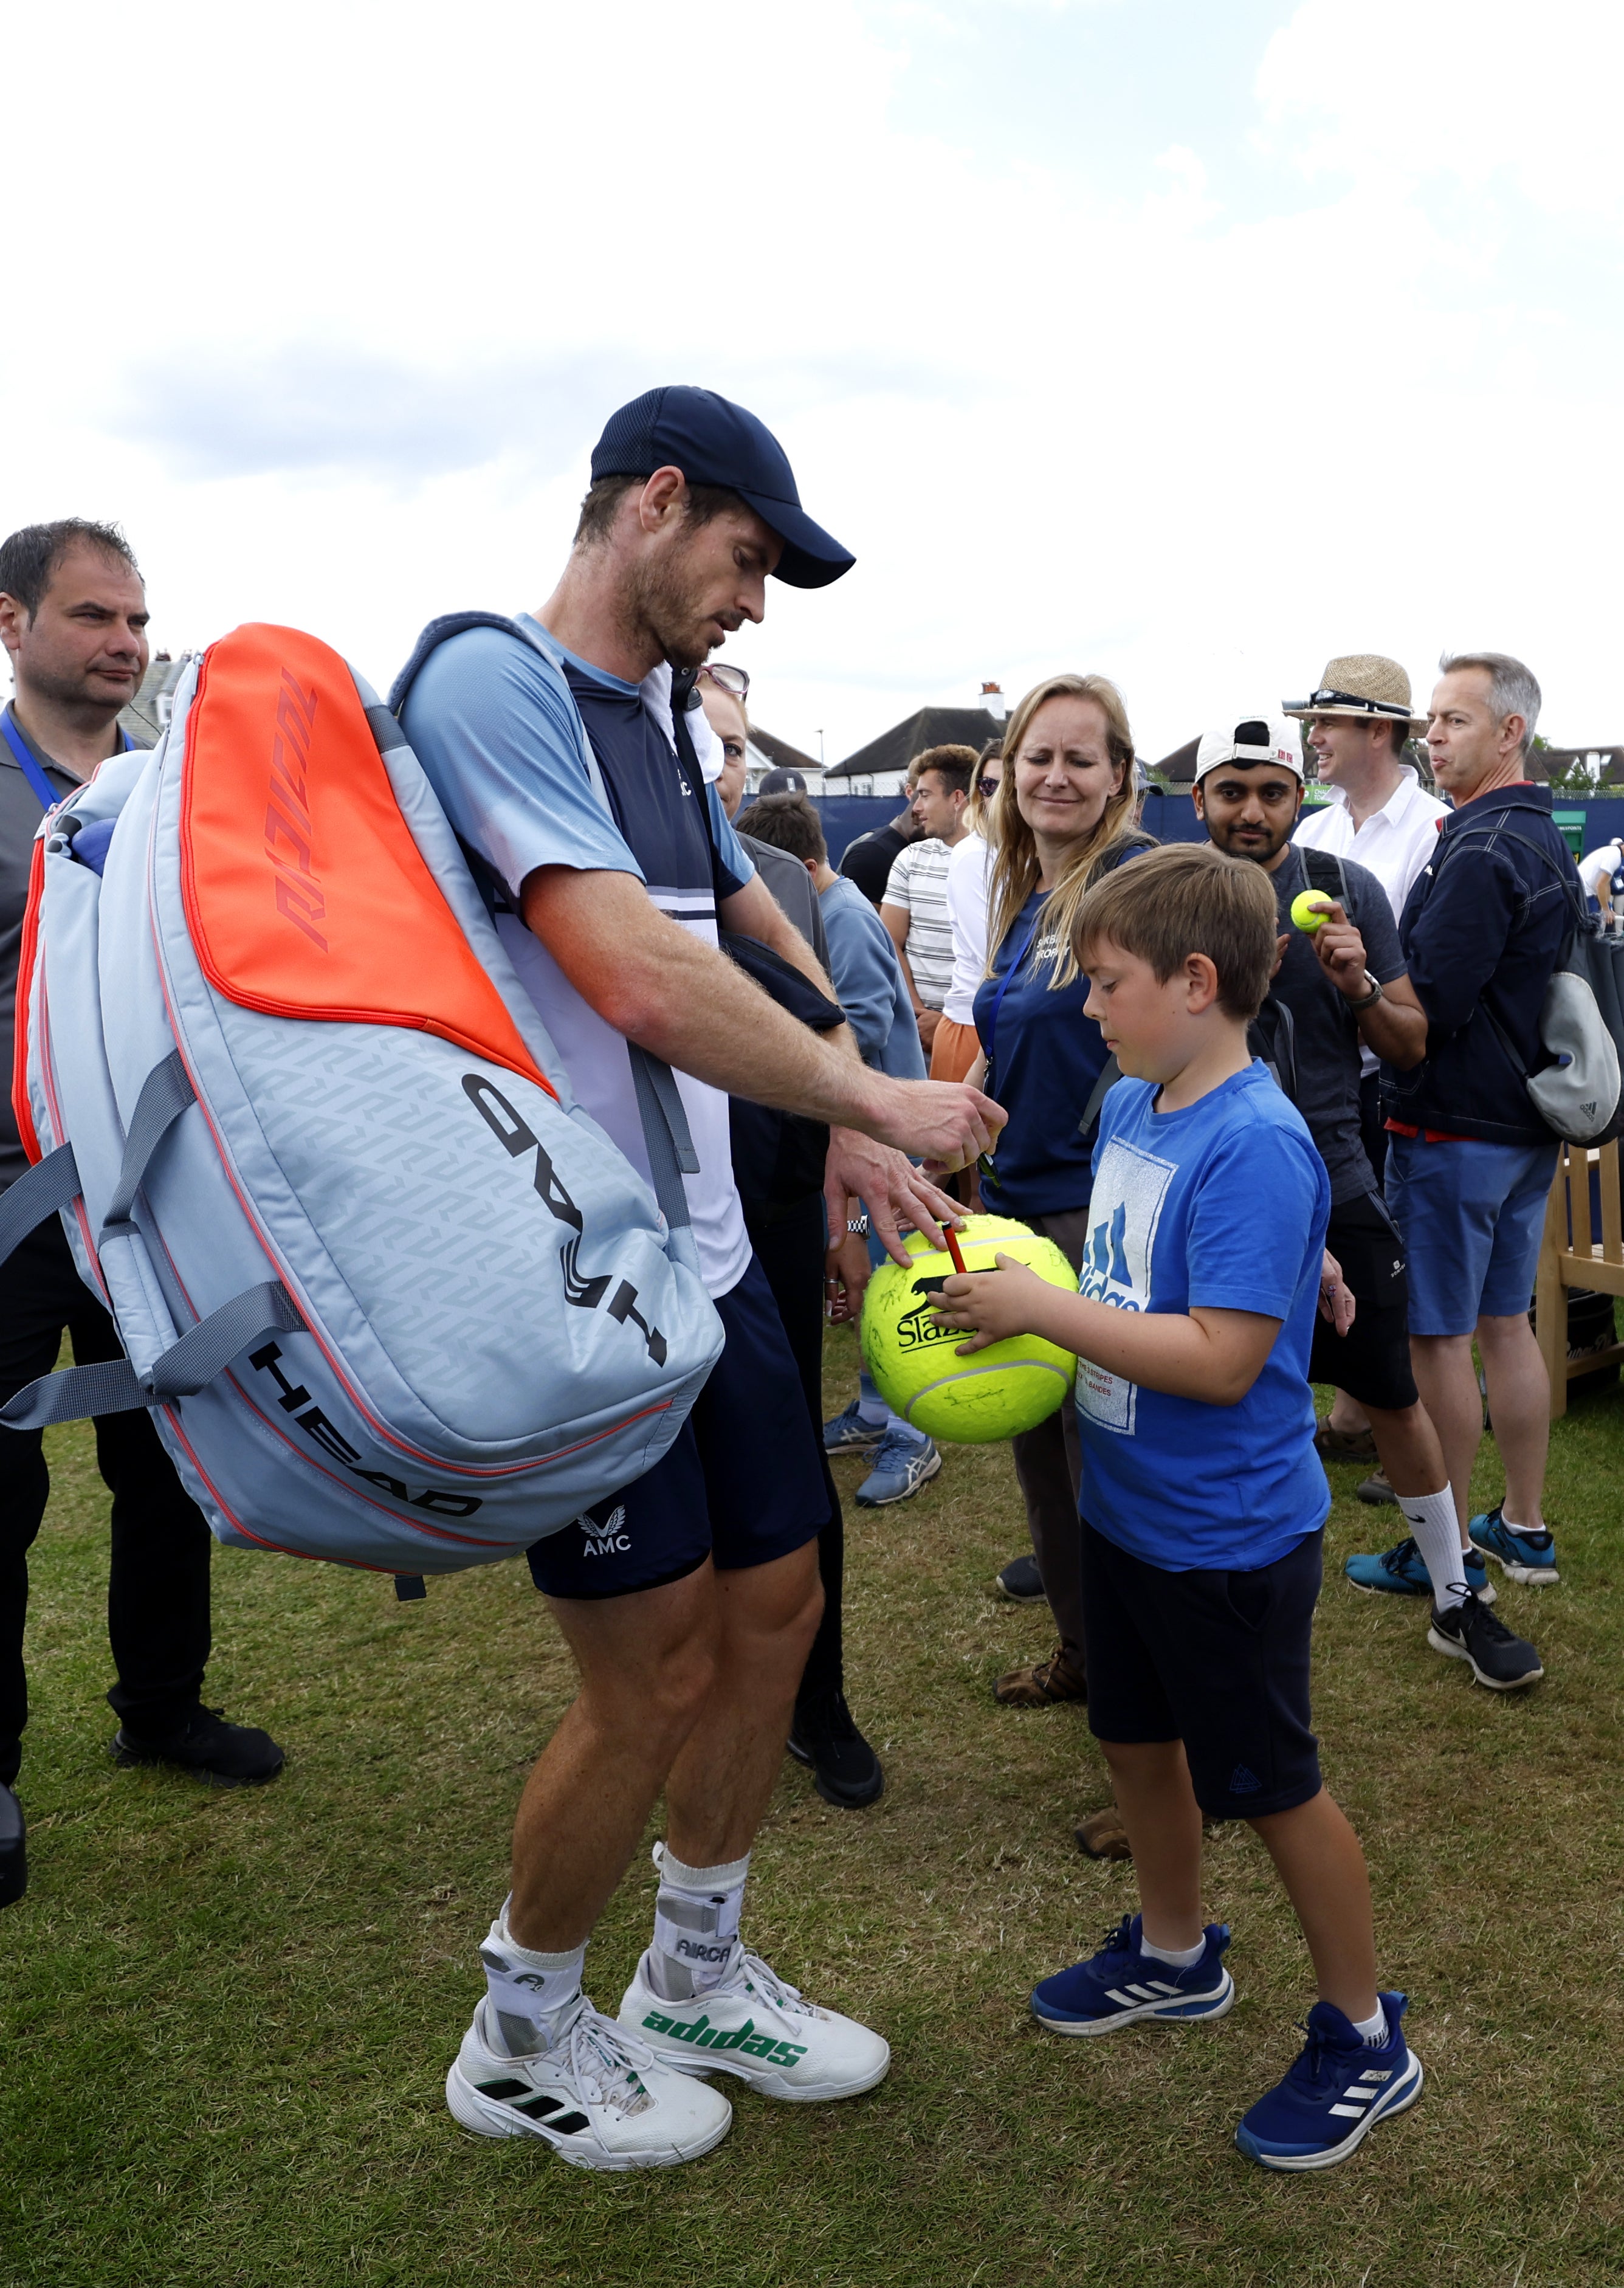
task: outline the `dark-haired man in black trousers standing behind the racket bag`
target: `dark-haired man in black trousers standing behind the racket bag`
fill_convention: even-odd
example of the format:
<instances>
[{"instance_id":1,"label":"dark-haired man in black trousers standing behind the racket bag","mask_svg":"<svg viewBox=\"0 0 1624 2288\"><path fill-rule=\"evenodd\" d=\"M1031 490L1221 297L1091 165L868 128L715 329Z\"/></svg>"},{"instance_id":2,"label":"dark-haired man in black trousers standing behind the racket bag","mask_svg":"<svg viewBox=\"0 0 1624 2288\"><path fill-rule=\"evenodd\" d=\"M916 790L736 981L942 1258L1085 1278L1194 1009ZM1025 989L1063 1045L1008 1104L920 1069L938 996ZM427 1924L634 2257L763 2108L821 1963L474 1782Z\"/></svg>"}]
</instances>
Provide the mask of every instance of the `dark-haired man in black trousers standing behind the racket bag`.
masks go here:
<instances>
[{"instance_id":1,"label":"dark-haired man in black trousers standing behind the racket bag","mask_svg":"<svg viewBox=\"0 0 1624 2288\"><path fill-rule=\"evenodd\" d=\"M34 833L130 741L119 709L146 673L146 590L124 535L105 524L30 524L0 545L0 643L16 698L0 716L0 1068L11 1071L16 972ZM0 1190L25 1171L9 1091L0 1101ZM62 1334L80 1366L117 1359L119 1334L80 1281L53 1217L0 1265L0 1405L57 1364ZM108 1638L119 1682L112 1753L178 1764L199 1778L270 1780L270 1734L201 1705L213 1538L144 1412L96 1419L96 1464L112 1492ZM23 1819L11 1794L23 1759L27 1549L50 1478L39 1430L0 1430L0 1906L23 1894Z\"/></svg>"}]
</instances>

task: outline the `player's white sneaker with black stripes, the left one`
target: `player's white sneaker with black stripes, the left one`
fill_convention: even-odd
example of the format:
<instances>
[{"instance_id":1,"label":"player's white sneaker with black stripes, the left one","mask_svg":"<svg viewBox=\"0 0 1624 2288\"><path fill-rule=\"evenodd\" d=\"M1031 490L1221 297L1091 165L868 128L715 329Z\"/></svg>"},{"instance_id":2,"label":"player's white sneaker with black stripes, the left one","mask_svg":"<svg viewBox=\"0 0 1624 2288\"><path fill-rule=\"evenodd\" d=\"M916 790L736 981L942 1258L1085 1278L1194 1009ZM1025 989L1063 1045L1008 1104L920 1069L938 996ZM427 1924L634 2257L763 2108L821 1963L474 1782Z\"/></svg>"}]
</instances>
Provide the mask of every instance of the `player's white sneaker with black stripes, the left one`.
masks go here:
<instances>
[{"instance_id":1,"label":"player's white sneaker with black stripes, the left one","mask_svg":"<svg viewBox=\"0 0 1624 2288\"><path fill-rule=\"evenodd\" d=\"M672 2073L586 1997L558 2045L533 2057L492 2050L485 2011L446 2075L446 2105L478 2137L540 2137L572 2169L672 2169L732 2128L727 2098Z\"/></svg>"}]
</instances>

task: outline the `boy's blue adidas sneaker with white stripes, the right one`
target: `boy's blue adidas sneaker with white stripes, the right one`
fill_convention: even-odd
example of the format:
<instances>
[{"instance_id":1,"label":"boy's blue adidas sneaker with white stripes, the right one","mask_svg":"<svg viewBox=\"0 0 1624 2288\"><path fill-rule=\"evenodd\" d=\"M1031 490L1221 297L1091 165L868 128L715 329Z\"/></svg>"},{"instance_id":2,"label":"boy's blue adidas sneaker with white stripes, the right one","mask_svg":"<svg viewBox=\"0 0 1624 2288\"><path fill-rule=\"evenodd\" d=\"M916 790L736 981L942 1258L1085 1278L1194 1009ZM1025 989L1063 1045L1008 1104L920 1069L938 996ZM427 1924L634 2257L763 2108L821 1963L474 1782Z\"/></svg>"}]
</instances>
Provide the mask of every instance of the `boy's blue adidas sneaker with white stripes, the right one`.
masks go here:
<instances>
[{"instance_id":1,"label":"boy's blue adidas sneaker with white stripes, the right one","mask_svg":"<svg viewBox=\"0 0 1624 2288\"><path fill-rule=\"evenodd\" d=\"M1404 1995L1379 1995L1386 2041L1363 2041L1334 2002L1315 2002L1308 2041L1283 2082L1258 2098L1235 2144L1265 2169L1334 2169L1363 2137L1420 2096L1420 2059L1404 2041Z\"/></svg>"}]
</instances>

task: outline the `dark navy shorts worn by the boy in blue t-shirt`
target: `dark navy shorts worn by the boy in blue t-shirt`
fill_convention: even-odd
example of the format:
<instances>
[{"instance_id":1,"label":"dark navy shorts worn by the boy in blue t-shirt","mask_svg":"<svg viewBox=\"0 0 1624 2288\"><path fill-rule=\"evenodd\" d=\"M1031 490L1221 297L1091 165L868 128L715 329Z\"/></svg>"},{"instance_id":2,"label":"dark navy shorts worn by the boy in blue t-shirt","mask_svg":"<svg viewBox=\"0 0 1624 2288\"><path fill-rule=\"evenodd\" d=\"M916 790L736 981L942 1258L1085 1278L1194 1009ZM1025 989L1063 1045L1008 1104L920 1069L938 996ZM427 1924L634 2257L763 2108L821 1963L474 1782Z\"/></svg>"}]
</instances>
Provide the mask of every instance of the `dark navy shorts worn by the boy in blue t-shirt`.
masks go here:
<instances>
[{"instance_id":1,"label":"dark navy shorts worn by the boy in blue t-shirt","mask_svg":"<svg viewBox=\"0 0 1624 2288\"><path fill-rule=\"evenodd\" d=\"M1320 1794L1308 1638L1324 1533L1256 1572L1162 1572L1082 1519L1089 1730L1183 1739L1210 1819L1263 1819Z\"/></svg>"}]
</instances>

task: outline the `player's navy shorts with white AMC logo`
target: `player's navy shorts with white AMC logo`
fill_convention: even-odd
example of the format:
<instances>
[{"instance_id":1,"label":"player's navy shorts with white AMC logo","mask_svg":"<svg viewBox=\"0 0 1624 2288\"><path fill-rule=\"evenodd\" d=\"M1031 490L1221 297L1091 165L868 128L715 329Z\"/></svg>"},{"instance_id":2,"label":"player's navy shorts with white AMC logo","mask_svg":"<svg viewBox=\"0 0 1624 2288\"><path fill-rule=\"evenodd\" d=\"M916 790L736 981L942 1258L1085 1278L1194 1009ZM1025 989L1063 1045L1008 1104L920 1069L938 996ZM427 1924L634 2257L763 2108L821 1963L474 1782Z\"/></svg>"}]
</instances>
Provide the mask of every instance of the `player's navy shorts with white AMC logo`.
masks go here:
<instances>
[{"instance_id":1,"label":"player's navy shorts with white AMC logo","mask_svg":"<svg viewBox=\"0 0 1624 2288\"><path fill-rule=\"evenodd\" d=\"M807 1396L755 1256L716 1311L727 1341L675 1444L526 1551L544 1597L631 1597L707 1558L718 1572L771 1565L828 1522Z\"/></svg>"}]
</instances>

